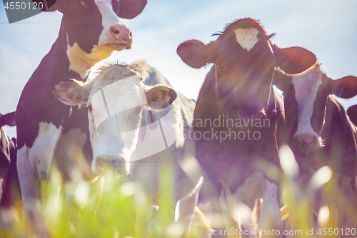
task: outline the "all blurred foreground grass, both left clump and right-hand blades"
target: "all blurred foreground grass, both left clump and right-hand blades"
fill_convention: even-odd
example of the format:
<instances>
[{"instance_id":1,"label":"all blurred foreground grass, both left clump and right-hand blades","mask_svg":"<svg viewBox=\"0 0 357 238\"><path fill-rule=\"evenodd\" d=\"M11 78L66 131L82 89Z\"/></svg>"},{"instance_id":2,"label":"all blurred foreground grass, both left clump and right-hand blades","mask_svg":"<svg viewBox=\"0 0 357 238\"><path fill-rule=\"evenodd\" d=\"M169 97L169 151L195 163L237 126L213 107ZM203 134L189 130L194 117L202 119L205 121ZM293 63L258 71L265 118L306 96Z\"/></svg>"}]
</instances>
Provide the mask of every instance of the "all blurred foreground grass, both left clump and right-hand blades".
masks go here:
<instances>
[{"instance_id":1,"label":"all blurred foreground grass, both left clump and right-hand blades","mask_svg":"<svg viewBox=\"0 0 357 238\"><path fill-rule=\"evenodd\" d=\"M318 170L308 187L303 189L296 182L298 167L292 152L285 149L280 156L286 161L281 172L289 214L285 229L301 231L301 235L293 237L337 238L342 237L341 233L346 233L347 229L356 228L356 204L338 185L331 169L323 167ZM193 225L190 234L185 234L185 224L174 222L172 174L169 164L161 166L156 199L160 209L156 211L152 206L153 194L145 192L145 184L118 177L111 170L94 182L79 181L74 184L64 182L61 174L54 169L51 179L41 182L41 202L38 202L37 209L43 217L44 227L54 238L202 237L206 229L199 221ZM316 217L311 204L316 202L318 191L322 191L323 197L317 222L314 222ZM18 202L12 211L14 224L11 229L0 230L1 238L35 236L29 222L21 219L21 214L21 202ZM341 224L338 217L347 219ZM321 234L318 234L319 229ZM311 230L313 234L306 233Z\"/></svg>"}]
</instances>

